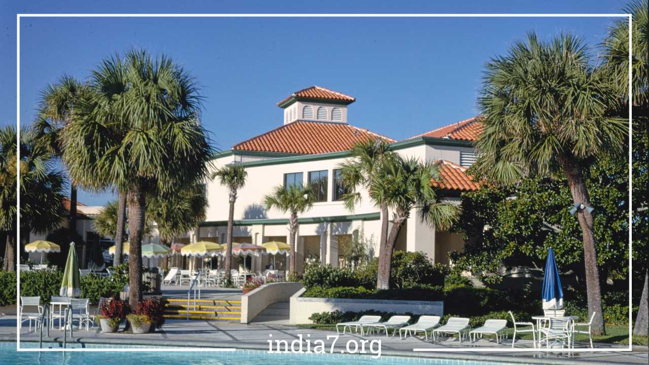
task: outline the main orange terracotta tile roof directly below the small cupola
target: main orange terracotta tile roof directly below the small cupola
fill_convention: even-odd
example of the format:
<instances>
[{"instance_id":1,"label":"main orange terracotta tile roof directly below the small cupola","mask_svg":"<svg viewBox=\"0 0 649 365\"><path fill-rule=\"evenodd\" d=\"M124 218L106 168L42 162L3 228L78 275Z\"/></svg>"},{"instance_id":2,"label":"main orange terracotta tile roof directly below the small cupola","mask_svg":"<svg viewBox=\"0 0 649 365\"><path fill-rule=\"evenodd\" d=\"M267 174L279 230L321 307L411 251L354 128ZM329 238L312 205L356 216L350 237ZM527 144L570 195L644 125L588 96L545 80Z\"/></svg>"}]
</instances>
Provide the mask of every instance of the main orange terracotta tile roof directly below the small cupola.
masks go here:
<instances>
[{"instance_id":1,"label":"main orange terracotta tile roof directly below the small cupola","mask_svg":"<svg viewBox=\"0 0 649 365\"><path fill-rule=\"evenodd\" d=\"M367 138L383 138L388 143L396 142L392 138L347 123L298 120L240 142L232 146L232 149L314 155L347 151L356 142Z\"/></svg>"}]
</instances>

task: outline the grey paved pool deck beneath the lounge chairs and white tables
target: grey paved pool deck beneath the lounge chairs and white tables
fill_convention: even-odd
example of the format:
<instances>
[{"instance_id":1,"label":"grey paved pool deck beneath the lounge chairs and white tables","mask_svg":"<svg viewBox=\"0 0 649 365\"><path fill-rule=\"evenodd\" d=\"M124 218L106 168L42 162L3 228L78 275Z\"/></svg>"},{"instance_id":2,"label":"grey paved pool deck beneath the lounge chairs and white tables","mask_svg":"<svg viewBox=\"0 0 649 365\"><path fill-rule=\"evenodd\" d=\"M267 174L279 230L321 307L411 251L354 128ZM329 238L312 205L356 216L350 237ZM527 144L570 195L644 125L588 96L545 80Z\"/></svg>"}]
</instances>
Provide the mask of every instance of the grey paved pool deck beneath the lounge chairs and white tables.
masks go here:
<instances>
[{"instance_id":1,"label":"grey paved pool deck beneath the lounge chairs and white tables","mask_svg":"<svg viewBox=\"0 0 649 365\"><path fill-rule=\"evenodd\" d=\"M120 329L121 331L121 329ZM62 342L62 332L51 330L51 336L45 338L47 342ZM289 344L297 340L299 335L306 340L308 337L312 343L315 340L323 340L326 348L332 344L331 339L326 336L332 335L330 331L319 331L313 329L300 329L289 325L271 325L271 324L250 324L242 325L239 323L218 323L215 321L183 321L168 320L163 331L150 334L129 334L129 333L101 333L98 327L90 331L74 332L76 344L119 344L119 345L145 345L145 346L195 346L195 347L235 347L237 349L260 349L267 351L269 349L269 334L272 334L273 340L287 340ZM21 341L38 342L39 333L33 331L29 333L27 327L21 329ZM381 340L382 355L393 356L417 356L417 357L437 357L448 359L465 359L465 360L491 360L506 361L517 363L533 364L647 364L648 357L646 350L633 353L620 352L620 346L611 346L609 344L596 344L596 347L607 348L611 351L600 353L574 353L573 355L557 353L540 353L534 351L530 341L517 341L517 348L529 348L529 352L508 353L507 349L511 348L511 340L505 340L504 344L496 345L487 340L480 340L475 344L463 342L459 344L457 340L445 340L437 344L425 342L419 338L407 338L399 340L398 336L386 338L385 336L361 337L357 334L345 334L336 342L334 353L345 351L347 342L354 340L357 343L361 340ZM0 341L16 340L16 317L5 316L0 318ZM70 339L68 338L68 341ZM51 346L54 344L51 344ZM55 345L58 347L58 344ZM578 344L578 347L585 347L585 344ZM414 348L428 349L465 349L461 353L445 351L439 352L417 352ZM478 353L471 351L472 348L491 348L495 352ZM498 351L498 350L504 351Z\"/></svg>"}]
</instances>

